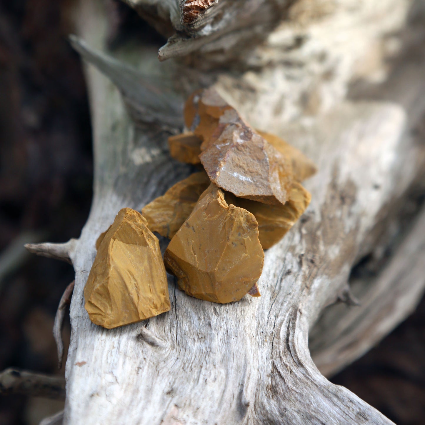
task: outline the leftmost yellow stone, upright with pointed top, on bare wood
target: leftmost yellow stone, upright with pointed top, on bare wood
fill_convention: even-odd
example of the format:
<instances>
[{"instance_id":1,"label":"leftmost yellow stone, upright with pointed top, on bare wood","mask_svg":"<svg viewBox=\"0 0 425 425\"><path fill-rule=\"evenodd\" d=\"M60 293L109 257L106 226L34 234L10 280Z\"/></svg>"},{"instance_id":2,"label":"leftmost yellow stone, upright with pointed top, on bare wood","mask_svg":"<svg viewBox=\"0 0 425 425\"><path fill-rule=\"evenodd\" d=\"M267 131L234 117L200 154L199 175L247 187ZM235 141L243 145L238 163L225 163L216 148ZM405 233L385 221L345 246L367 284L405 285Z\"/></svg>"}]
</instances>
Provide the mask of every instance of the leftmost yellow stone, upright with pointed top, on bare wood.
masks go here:
<instances>
[{"instance_id":1,"label":"leftmost yellow stone, upright with pointed top, on bare wood","mask_svg":"<svg viewBox=\"0 0 425 425\"><path fill-rule=\"evenodd\" d=\"M96 245L84 288L85 309L93 323L111 329L170 310L159 241L139 212L120 210Z\"/></svg>"}]
</instances>

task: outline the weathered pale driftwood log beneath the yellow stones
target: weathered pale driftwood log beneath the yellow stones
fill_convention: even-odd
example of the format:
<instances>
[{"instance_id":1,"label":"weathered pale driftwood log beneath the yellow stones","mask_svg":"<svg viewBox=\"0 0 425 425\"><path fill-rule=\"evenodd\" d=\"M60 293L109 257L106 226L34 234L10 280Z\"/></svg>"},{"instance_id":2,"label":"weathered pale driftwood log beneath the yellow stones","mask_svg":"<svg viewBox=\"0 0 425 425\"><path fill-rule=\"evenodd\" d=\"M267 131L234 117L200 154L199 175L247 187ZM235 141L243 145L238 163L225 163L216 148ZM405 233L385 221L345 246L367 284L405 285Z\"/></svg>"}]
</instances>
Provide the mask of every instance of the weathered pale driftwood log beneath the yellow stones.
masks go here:
<instances>
[{"instance_id":1,"label":"weathered pale driftwood log beneath the yellow stones","mask_svg":"<svg viewBox=\"0 0 425 425\"><path fill-rule=\"evenodd\" d=\"M423 293L425 210L406 205L425 170L424 2L126 3L170 37L159 50L169 60L140 39L105 51L105 2L76 5L94 199L78 239L28 246L75 269L65 411L44 423L391 423L325 376ZM311 204L266 250L261 297L210 303L169 276L169 312L96 326L83 297L96 239L121 208L140 211L193 171L171 159L167 138L183 128L183 100L210 85L254 128L314 160Z\"/></svg>"}]
</instances>

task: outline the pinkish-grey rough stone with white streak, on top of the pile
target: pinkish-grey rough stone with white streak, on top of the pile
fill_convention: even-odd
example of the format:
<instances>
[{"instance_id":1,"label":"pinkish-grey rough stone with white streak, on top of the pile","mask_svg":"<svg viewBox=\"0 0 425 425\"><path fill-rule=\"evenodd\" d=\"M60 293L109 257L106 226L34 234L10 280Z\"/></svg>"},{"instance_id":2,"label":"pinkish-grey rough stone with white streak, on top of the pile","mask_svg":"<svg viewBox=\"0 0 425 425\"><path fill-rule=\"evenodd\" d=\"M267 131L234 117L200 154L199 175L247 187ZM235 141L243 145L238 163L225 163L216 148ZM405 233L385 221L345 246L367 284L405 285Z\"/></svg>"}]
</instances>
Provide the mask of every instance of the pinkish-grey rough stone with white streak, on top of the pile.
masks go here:
<instances>
[{"instance_id":1,"label":"pinkish-grey rough stone with white streak, on top of the pile","mask_svg":"<svg viewBox=\"0 0 425 425\"><path fill-rule=\"evenodd\" d=\"M232 111L220 119L223 130L199 158L210 180L238 197L284 204L293 181L288 159ZM201 146L203 149L204 144Z\"/></svg>"}]
</instances>

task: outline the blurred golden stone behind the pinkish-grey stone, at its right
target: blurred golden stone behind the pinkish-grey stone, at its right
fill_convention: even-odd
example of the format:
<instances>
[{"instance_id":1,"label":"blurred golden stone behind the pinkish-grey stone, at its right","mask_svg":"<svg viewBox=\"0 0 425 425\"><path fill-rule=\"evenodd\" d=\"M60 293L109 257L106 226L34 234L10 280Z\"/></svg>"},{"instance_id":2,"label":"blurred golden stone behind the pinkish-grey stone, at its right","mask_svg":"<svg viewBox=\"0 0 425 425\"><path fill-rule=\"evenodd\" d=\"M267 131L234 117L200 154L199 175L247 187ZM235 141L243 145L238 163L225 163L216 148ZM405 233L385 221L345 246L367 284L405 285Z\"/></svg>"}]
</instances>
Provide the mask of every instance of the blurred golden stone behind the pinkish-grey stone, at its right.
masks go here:
<instances>
[{"instance_id":1,"label":"blurred golden stone behind the pinkish-grey stone, at its right","mask_svg":"<svg viewBox=\"0 0 425 425\"><path fill-rule=\"evenodd\" d=\"M307 158L300 150L293 147L289 143L286 143L280 137L275 134L265 133L260 130L256 130L257 133L264 137L273 147L275 147L282 155L286 156L292 164L292 172L294 178L297 181L303 181L306 178L311 177L317 172L317 168L314 162Z\"/></svg>"}]
</instances>

